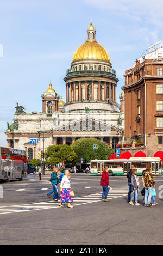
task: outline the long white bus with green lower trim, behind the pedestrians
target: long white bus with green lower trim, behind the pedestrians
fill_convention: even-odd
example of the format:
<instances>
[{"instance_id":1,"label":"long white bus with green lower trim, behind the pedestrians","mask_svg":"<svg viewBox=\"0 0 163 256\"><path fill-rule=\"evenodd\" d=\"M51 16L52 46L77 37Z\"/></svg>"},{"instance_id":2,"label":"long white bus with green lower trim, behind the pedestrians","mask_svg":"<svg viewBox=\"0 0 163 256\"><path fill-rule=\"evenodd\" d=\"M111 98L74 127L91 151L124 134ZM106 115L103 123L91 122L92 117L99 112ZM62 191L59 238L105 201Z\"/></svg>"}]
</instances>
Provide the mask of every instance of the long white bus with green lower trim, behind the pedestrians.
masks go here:
<instances>
[{"instance_id":1,"label":"long white bus with green lower trim, behind the pedestrians","mask_svg":"<svg viewBox=\"0 0 163 256\"><path fill-rule=\"evenodd\" d=\"M137 169L138 175L142 175L147 167L151 168L152 174L163 173L160 157L130 157L130 159L91 160L91 174L102 174L107 167L109 176L127 175L132 164Z\"/></svg>"}]
</instances>

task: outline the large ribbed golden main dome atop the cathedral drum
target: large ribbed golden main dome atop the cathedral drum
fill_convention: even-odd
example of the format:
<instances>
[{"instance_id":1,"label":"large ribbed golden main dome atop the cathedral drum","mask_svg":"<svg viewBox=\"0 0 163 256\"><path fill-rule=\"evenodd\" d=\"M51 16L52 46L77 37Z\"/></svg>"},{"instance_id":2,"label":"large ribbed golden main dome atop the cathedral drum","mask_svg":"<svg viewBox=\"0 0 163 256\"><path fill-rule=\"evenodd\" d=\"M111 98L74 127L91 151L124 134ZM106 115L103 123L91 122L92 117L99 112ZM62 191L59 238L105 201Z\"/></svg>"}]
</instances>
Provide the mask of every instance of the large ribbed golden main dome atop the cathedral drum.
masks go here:
<instances>
[{"instance_id":1,"label":"large ribbed golden main dome atop the cathedral drum","mask_svg":"<svg viewBox=\"0 0 163 256\"><path fill-rule=\"evenodd\" d=\"M86 41L80 45L73 55L72 62L79 59L100 59L110 62L110 57L105 48L97 41Z\"/></svg>"}]
</instances>

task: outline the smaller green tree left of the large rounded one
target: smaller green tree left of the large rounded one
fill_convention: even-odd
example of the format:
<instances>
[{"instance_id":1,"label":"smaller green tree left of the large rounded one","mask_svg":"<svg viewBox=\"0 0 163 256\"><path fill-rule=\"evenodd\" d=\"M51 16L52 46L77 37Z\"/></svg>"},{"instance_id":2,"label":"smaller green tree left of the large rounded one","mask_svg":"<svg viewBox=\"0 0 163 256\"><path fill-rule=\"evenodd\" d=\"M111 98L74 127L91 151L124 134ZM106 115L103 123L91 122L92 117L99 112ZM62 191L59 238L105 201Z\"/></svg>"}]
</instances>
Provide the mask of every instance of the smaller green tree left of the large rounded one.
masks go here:
<instances>
[{"instance_id":1,"label":"smaller green tree left of the large rounded one","mask_svg":"<svg viewBox=\"0 0 163 256\"><path fill-rule=\"evenodd\" d=\"M65 163L73 162L77 155L74 150L68 145L52 145L48 147L46 153L46 161L48 164L57 164L62 161Z\"/></svg>"}]
</instances>

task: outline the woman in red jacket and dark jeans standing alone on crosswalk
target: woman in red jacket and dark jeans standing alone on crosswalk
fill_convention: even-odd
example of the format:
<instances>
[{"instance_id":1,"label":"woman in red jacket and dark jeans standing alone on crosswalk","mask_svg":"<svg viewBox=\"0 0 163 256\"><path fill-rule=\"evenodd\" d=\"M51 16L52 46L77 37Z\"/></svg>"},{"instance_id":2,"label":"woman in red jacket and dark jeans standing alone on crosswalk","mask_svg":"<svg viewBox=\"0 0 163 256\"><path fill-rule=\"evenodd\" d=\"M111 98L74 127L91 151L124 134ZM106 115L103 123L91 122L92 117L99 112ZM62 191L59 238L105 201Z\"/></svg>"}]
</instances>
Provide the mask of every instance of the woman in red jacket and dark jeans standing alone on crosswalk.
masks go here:
<instances>
[{"instance_id":1,"label":"woman in red jacket and dark jeans standing alone on crosswalk","mask_svg":"<svg viewBox=\"0 0 163 256\"><path fill-rule=\"evenodd\" d=\"M109 175L108 175L108 168L104 168L100 185L103 187L103 193L102 193L102 201L109 202L108 200L108 192L109 192Z\"/></svg>"}]
</instances>

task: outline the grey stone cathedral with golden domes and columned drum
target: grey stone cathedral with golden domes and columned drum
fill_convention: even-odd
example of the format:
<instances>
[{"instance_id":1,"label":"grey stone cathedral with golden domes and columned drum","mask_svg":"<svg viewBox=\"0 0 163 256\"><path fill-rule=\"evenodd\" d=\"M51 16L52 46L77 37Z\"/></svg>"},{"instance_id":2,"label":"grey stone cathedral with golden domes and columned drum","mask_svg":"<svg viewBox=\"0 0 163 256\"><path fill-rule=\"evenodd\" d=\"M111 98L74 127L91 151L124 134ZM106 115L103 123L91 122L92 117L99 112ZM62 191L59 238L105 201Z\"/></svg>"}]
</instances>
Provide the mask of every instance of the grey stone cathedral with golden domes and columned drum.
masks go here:
<instances>
[{"instance_id":1,"label":"grey stone cathedral with golden domes and columned drum","mask_svg":"<svg viewBox=\"0 0 163 256\"><path fill-rule=\"evenodd\" d=\"M79 138L97 138L116 148L124 131L124 96L116 102L118 78L105 48L96 41L96 29L87 28L87 39L72 57L64 78L66 102L52 84L41 95L42 112L26 113L17 103L14 123L8 123L8 147L24 149L27 156L49 145L71 145Z\"/></svg>"}]
</instances>

